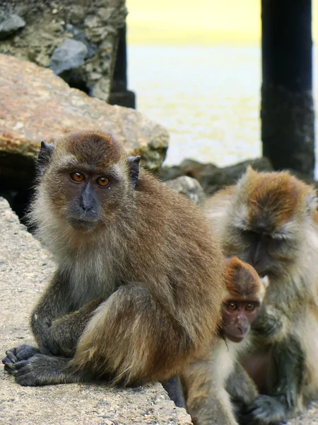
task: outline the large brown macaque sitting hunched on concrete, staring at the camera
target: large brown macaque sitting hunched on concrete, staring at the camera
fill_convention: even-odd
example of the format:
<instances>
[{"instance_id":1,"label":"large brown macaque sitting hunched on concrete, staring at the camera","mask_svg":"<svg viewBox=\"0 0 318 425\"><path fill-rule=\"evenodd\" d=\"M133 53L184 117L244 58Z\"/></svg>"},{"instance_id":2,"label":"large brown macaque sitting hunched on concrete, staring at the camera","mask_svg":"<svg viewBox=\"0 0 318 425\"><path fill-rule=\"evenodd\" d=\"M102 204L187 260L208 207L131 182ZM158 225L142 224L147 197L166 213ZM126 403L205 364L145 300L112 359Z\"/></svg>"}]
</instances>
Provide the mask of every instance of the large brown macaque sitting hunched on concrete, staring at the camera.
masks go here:
<instances>
[{"instance_id":1,"label":"large brown macaque sitting hunched on concrete, staring at the camera","mask_svg":"<svg viewBox=\"0 0 318 425\"><path fill-rule=\"evenodd\" d=\"M42 147L31 208L57 271L3 362L20 385L167 380L206 350L225 287L203 212L139 169L110 135Z\"/></svg>"}]
</instances>

